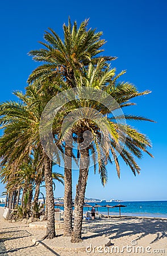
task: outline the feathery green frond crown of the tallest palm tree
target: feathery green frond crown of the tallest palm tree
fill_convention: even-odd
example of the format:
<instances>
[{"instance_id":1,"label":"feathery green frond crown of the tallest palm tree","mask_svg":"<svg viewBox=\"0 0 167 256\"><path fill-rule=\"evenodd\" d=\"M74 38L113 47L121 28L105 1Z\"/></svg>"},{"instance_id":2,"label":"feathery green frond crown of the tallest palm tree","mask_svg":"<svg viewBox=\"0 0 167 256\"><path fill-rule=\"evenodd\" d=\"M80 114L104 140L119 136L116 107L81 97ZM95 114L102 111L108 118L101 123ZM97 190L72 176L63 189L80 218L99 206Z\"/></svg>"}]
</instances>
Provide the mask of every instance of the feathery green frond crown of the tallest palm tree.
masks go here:
<instances>
[{"instance_id":1,"label":"feathery green frond crown of the tallest palm tree","mask_svg":"<svg viewBox=\"0 0 167 256\"><path fill-rule=\"evenodd\" d=\"M63 77L70 87L74 84L74 71L82 70L83 67L89 65L90 61L97 64L98 59L108 61L114 60L115 57L97 56L103 52L101 47L105 44L105 40L100 39L102 32L95 32L91 28L87 29L88 20L81 23L77 27L77 22L73 26L68 20L68 26L63 25L64 42L52 28L49 32L45 32L45 43L40 42L45 48L33 50L29 52L33 59L43 64L37 67L29 76L28 83L38 80L48 80L55 82L55 79Z\"/></svg>"}]
</instances>

